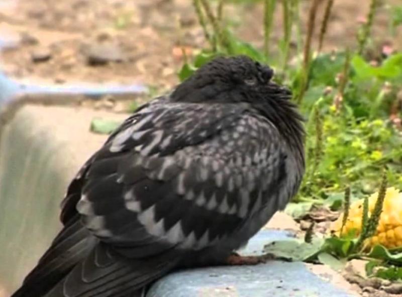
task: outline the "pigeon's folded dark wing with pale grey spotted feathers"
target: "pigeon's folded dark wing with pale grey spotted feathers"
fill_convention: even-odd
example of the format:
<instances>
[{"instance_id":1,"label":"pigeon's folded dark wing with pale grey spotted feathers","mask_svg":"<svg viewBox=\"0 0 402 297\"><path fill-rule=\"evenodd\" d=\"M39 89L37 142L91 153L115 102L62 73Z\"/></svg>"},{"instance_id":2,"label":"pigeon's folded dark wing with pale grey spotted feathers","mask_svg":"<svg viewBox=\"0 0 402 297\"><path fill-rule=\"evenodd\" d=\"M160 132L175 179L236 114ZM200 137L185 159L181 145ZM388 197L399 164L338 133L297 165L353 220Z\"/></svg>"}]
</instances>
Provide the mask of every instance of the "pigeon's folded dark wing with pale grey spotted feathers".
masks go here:
<instances>
[{"instance_id":1,"label":"pigeon's folded dark wing with pale grey spotted feathers","mask_svg":"<svg viewBox=\"0 0 402 297\"><path fill-rule=\"evenodd\" d=\"M207 231L202 242L211 245L267 197L256 189L272 191L284 177L271 174L285 159L278 132L244 106L174 103L145 108L136 121L103 147L110 158L93 160L78 203L84 225L106 242L124 242L126 251L202 249Z\"/></svg>"}]
</instances>

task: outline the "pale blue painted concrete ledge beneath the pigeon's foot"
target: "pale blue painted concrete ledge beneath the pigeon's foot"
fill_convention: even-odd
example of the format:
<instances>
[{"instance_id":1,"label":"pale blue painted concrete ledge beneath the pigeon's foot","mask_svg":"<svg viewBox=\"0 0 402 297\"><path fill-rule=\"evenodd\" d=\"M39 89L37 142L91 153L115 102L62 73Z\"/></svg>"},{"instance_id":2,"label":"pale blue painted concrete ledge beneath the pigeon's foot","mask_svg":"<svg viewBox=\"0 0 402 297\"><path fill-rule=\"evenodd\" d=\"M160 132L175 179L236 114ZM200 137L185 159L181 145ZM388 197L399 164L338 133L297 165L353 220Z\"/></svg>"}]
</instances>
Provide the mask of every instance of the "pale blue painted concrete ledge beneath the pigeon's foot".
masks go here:
<instances>
[{"instance_id":1,"label":"pale blue painted concrete ledge beneath the pigeon's foot","mask_svg":"<svg viewBox=\"0 0 402 297\"><path fill-rule=\"evenodd\" d=\"M284 231L260 231L242 255L262 254L263 246L292 236ZM255 266L187 269L155 282L146 297L349 297L341 288L310 272L302 262L269 261Z\"/></svg>"}]
</instances>

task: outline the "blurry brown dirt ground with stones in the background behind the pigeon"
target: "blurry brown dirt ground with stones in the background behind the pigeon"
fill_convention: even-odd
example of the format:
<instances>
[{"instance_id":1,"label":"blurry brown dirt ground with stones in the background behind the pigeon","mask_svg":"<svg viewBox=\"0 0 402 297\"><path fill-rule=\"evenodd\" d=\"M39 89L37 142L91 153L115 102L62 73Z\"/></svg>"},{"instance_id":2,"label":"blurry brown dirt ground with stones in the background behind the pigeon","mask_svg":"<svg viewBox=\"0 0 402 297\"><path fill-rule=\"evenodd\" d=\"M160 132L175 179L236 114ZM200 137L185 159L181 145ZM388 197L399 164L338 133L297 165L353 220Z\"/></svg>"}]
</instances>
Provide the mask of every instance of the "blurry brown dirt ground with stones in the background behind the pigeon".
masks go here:
<instances>
[{"instance_id":1,"label":"blurry brown dirt ground with stones in the background behind the pigeon","mask_svg":"<svg viewBox=\"0 0 402 297\"><path fill-rule=\"evenodd\" d=\"M387 37L387 10L398 2L388 0L379 9L373 35L379 46L402 48L400 32L394 38L399 44ZM302 2L303 20L310 3ZM369 1L335 1L326 51L355 45L356 29L368 6ZM189 55L205 45L191 0L0 0L0 12L0 44L7 42L0 65L18 79L169 88L177 83L176 72L182 64L180 45ZM228 4L225 15L239 36L262 46L261 3ZM282 35L280 8L273 23L277 40ZM305 25L301 29L305 31ZM98 63L99 55L111 62Z\"/></svg>"}]
</instances>

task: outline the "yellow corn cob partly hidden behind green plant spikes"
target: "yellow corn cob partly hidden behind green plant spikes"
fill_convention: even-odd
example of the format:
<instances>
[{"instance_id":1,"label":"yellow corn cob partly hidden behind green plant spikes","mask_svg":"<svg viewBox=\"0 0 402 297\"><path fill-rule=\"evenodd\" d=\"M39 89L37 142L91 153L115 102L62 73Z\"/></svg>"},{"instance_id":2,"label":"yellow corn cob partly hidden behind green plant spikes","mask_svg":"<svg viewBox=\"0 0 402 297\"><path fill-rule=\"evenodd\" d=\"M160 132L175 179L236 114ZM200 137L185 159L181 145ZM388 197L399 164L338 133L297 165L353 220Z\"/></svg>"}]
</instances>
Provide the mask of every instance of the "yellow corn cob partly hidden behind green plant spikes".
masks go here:
<instances>
[{"instance_id":1,"label":"yellow corn cob partly hidden behind green plant spikes","mask_svg":"<svg viewBox=\"0 0 402 297\"><path fill-rule=\"evenodd\" d=\"M368 215L374 210L378 193L374 193L368 198ZM350 205L349 216L343 227L342 234L348 234L353 229L357 235L361 231L361 219L363 213L363 199ZM342 227L341 215L338 220L331 224L330 230L339 236ZM402 192L395 188L386 190L382 213L378 222L376 233L365 242L368 246L382 244L387 248L402 247Z\"/></svg>"}]
</instances>

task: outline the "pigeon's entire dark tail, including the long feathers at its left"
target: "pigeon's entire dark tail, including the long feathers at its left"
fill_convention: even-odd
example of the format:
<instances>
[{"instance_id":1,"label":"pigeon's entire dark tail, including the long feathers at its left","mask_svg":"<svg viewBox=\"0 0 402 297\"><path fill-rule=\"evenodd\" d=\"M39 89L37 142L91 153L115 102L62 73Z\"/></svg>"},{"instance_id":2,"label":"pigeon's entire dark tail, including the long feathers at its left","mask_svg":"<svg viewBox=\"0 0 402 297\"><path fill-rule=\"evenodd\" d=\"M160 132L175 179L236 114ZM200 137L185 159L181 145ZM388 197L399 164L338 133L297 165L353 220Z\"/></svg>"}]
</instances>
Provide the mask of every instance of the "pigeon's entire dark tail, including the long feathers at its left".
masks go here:
<instances>
[{"instance_id":1,"label":"pigeon's entire dark tail, including the long feathers at its left","mask_svg":"<svg viewBox=\"0 0 402 297\"><path fill-rule=\"evenodd\" d=\"M177 250L130 259L70 221L12 297L141 297L176 267Z\"/></svg>"}]
</instances>

